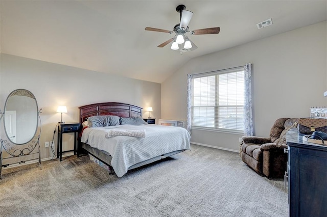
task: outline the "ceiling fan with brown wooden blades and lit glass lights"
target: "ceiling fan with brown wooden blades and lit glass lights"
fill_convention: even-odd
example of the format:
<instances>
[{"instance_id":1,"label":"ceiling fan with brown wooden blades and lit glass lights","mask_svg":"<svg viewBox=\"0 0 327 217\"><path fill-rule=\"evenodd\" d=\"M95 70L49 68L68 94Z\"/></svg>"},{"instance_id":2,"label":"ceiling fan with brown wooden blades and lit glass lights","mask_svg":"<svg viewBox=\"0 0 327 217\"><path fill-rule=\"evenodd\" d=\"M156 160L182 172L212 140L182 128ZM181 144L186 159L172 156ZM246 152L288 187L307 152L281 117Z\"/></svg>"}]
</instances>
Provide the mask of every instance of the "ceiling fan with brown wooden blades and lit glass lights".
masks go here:
<instances>
[{"instance_id":1,"label":"ceiling fan with brown wooden blades and lit glass lights","mask_svg":"<svg viewBox=\"0 0 327 217\"><path fill-rule=\"evenodd\" d=\"M185 10L185 8L186 7L184 5L177 6L176 11L180 13L180 23L174 26L173 31L156 29L151 27L145 28L145 30L147 31L176 34L174 38L168 39L164 43L159 44L158 47L164 47L167 44L173 42L171 49L180 50L180 53L189 50L195 50L198 47L189 39L188 36L185 36L185 33L189 32L191 35L204 35L204 34L218 34L220 32L219 27L189 31L189 23L193 16L193 12Z\"/></svg>"}]
</instances>

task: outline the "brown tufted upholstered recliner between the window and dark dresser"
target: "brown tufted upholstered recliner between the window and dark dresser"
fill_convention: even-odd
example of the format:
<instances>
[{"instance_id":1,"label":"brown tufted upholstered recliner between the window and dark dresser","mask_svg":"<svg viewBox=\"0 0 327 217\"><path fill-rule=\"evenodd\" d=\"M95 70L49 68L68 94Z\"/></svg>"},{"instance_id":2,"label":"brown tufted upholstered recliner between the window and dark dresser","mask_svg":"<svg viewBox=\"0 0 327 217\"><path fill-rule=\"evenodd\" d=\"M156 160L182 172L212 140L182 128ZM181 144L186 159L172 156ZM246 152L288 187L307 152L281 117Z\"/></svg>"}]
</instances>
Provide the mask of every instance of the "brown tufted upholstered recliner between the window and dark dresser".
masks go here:
<instances>
[{"instance_id":1,"label":"brown tufted upholstered recliner between the window and dark dresser","mask_svg":"<svg viewBox=\"0 0 327 217\"><path fill-rule=\"evenodd\" d=\"M255 172L267 177L281 177L286 171L287 154L284 148L277 147L276 141L282 132L291 127L297 118L279 118L270 130L270 137L243 136L241 144L242 160Z\"/></svg>"}]
</instances>

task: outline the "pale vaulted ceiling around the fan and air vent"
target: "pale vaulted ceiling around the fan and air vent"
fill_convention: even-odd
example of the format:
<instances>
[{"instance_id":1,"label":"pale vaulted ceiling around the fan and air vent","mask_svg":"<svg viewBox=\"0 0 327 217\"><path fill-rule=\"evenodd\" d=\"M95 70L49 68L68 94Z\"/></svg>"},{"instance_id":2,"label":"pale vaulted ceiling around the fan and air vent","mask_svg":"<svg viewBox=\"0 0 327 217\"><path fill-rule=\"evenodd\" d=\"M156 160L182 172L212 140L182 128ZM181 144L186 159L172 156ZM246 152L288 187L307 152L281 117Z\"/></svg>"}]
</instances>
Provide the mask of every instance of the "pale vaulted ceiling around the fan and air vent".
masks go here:
<instances>
[{"instance_id":1,"label":"pale vaulted ceiling around the fan and air vent","mask_svg":"<svg viewBox=\"0 0 327 217\"><path fill-rule=\"evenodd\" d=\"M220 26L188 35L198 49L182 55L157 47L169 33L144 30L172 31L180 4L194 13L190 30ZM0 15L2 53L162 83L192 58L327 20L327 1L0 0Z\"/></svg>"}]
</instances>

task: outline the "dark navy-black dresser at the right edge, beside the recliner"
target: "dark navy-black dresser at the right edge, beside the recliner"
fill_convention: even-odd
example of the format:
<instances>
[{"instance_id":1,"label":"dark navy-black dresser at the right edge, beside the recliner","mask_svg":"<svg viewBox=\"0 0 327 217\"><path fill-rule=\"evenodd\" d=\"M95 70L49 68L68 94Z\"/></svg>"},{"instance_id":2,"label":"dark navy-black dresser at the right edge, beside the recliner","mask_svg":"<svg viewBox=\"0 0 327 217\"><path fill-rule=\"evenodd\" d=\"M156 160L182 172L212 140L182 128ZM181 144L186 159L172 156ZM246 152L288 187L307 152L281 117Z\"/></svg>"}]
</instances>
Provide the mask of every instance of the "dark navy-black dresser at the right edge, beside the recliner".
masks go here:
<instances>
[{"instance_id":1,"label":"dark navy-black dresser at the right edge, beside the recliner","mask_svg":"<svg viewBox=\"0 0 327 217\"><path fill-rule=\"evenodd\" d=\"M327 216L327 145L288 140L289 216Z\"/></svg>"}]
</instances>

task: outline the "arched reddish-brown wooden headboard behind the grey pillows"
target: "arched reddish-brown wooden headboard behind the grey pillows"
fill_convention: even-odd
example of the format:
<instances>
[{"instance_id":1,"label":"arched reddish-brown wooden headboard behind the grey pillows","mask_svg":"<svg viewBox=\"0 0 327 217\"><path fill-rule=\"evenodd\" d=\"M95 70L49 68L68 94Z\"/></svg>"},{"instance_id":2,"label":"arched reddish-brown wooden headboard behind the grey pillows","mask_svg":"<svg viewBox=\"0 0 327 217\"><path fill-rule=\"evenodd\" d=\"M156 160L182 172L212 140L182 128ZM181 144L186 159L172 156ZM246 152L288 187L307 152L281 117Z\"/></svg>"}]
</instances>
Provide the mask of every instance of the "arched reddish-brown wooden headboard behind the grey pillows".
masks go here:
<instances>
[{"instance_id":1,"label":"arched reddish-brown wooden headboard behind the grey pillows","mask_svg":"<svg viewBox=\"0 0 327 217\"><path fill-rule=\"evenodd\" d=\"M80 123L95 115L116 115L119 117L142 117L142 107L121 102L101 102L78 107L80 109Z\"/></svg>"}]
</instances>

